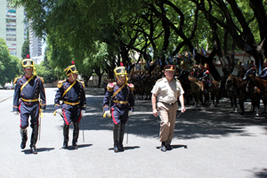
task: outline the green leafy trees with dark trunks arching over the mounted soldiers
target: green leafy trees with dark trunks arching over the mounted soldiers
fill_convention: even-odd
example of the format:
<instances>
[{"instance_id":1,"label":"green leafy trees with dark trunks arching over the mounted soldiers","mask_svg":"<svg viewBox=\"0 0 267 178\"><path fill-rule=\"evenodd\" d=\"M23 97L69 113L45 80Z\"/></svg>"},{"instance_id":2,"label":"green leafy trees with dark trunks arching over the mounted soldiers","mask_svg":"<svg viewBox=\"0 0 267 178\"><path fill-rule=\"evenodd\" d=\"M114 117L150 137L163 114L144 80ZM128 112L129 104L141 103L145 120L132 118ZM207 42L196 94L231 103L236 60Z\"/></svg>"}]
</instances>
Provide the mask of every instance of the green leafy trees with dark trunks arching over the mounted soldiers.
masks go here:
<instances>
[{"instance_id":1,"label":"green leafy trees with dark trunks arching over the mounted soldiers","mask_svg":"<svg viewBox=\"0 0 267 178\"><path fill-rule=\"evenodd\" d=\"M194 53L197 63L214 68L219 56L223 73L235 66L234 52L246 51L263 64L267 56L266 0L12 0L23 5L36 35L46 38L47 61L61 71L75 59L77 69L88 78L112 70L122 61L162 61L177 53ZM211 54L201 55L208 46ZM247 49L247 50L246 50ZM223 52L224 56L223 57ZM133 55L132 55L133 54ZM226 62L227 61L227 62ZM226 65L229 63L229 66ZM156 62L151 69L156 67ZM101 80L100 80L101 81Z\"/></svg>"}]
</instances>

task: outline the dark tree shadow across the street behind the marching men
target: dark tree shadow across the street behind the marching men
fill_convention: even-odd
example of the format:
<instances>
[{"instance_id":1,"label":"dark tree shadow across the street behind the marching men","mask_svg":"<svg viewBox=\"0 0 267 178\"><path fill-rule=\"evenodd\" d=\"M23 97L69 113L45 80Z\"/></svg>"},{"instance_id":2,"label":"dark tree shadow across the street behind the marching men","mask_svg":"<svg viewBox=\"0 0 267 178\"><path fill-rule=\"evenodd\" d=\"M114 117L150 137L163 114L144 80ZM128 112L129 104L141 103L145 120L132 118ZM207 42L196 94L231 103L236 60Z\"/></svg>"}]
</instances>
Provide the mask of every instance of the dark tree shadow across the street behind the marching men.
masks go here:
<instances>
[{"instance_id":1,"label":"dark tree shadow across the street behind the marching men","mask_svg":"<svg viewBox=\"0 0 267 178\"><path fill-rule=\"evenodd\" d=\"M113 122L109 117L102 117L103 95L86 93L86 113L83 117L85 130L113 129ZM247 106L248 108L248 106ZM267 130L265 116L255 117L255 113L246 112L245 115L230 113L231 104L223 101L218 107L206 107L193 110L192 106L186 107L186 112L176 119L174 138L195 139L200 137L222 137L228 134L253 136L246 133L246 126L264 125ZM44 113L53 113L53 105L47 105ZM178 111L179 114L180 111ZM159 117L152 115L150 101L135 101L134 114L129 118L129 134L141 137L158 138ZM80 125L82 129L82 125ZM125 133L127 124L125 125Z\"/></svg>"}]
</instances>

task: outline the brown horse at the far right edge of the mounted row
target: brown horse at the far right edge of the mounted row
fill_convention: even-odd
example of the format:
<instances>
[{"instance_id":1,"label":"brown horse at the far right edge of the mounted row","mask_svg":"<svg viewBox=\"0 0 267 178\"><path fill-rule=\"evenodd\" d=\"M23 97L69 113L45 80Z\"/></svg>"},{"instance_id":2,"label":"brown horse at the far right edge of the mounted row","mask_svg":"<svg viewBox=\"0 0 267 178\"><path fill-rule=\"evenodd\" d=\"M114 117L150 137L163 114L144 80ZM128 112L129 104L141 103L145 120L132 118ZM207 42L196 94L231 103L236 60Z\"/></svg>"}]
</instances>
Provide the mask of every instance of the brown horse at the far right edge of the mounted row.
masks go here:
<instances>
[{"instance_id":1,"label":"brown horse at the far right edge of the mounted row","mask_svg":"<svg viewBox=\"0 0 267 178\"><path fill-rule=\"evenodd\" d=\"M250 77L247 84L248 91L255 91L255 86L261 91L265 113L267 106L267 80L260 77Z\"/></svg>"}]
</instances>

